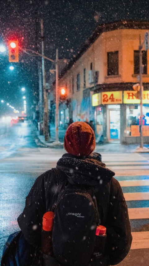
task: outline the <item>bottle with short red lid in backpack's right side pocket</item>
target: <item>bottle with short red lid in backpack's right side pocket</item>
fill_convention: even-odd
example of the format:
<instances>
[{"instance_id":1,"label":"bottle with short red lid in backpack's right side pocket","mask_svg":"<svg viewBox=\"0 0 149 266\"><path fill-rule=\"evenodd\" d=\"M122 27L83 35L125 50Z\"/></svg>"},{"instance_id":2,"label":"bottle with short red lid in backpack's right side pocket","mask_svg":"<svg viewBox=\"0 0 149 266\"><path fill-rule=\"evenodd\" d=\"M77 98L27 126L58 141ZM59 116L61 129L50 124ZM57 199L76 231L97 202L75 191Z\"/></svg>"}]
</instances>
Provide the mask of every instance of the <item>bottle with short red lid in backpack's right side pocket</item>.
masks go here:
<instances>
[{"instance_id":1,"label":"bottle with short red lid in backpack's right side pocket","mask_svg":"<svg viewBox=\"0 0 149 266\"><path fill-rule=\"evenodd\" d=\"M92 256L92 260L100 259L104 253L104 248L106 244L106 227L99 225L96 228L96 240L95 249Z\"/></svg>"}]
</instances>

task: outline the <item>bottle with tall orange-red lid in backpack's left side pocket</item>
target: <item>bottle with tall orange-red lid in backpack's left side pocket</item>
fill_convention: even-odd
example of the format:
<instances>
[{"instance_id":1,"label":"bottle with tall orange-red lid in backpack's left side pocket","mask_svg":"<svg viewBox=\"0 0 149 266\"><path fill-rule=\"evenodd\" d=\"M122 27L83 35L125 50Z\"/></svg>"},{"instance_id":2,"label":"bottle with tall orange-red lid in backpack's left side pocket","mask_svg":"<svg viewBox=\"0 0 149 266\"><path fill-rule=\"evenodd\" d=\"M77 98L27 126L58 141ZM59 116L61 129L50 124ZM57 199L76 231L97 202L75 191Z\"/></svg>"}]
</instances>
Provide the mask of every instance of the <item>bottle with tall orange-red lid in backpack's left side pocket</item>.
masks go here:
<instances>
[{"instance_id":1,"label":"bottle with tall orange-red lid in backpack's left side pocket","mask_svg":"<svg viewBox=\"0 0 149 266\"><path fill-rule=\"evenodd\" d=\"M41 233L41 251L43 254L52 256L52 229L54 212L48 211L43 215L43 227Z\"/></svg>"}]
</instances>

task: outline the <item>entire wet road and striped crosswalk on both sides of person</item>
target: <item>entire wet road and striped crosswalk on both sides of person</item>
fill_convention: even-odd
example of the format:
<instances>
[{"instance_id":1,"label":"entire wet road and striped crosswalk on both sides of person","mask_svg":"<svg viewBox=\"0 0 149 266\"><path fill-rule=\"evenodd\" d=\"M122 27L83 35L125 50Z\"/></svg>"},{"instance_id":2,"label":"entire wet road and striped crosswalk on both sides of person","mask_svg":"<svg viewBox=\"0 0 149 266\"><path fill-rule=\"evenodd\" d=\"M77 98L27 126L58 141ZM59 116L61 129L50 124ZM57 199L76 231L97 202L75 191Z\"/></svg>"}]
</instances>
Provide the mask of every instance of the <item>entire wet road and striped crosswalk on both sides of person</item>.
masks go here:
<instances>
[{"instance_id":1,"label":"entire wet road and striped crosswalk on both sides of person","mask_svg":"<svg viewBox=\"0 0 149 266\"><path fill-rule=\"evenodd\" d=\"M55 167L64 149L43 148L29 121L0 120L0 257L8 236L19 230L17 217L35 179ZM96 147L101 152L104 147ZM103 150L106 167L115 172L129 208L133 244L120 266L148 266L149 261L149 154ZM105 152L106 151L106 152ZM129 184L130 183L130 184ZM132 184L133 183L133 184Z\"/></svg>"}]
</instances>

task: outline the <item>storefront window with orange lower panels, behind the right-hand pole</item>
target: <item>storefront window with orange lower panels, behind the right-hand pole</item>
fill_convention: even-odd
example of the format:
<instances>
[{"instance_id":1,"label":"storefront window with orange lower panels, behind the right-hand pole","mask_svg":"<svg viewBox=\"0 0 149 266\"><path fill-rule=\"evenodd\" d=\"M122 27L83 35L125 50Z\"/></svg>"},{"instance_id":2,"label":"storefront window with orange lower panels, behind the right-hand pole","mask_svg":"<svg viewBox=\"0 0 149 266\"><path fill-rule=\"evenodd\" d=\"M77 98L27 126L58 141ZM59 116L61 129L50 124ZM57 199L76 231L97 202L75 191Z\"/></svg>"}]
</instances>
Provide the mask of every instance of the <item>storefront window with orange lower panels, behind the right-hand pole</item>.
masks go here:
<instances>
[{"instance_id":1,"label":"storefront window with orange lower panels, behind the right-hand pole","mask_svg":"<svg viewBox=\"0 0 149 266\"><path fill-rule=\"evenodd\" d=\"M149 106L144 104L142 108L143 112L143 135L149 136ZM138 137L140 125L140 105L127 105L126 107L126 137ZM145 127L148 126L148 127Z\"/></svg>"}]
</instances>

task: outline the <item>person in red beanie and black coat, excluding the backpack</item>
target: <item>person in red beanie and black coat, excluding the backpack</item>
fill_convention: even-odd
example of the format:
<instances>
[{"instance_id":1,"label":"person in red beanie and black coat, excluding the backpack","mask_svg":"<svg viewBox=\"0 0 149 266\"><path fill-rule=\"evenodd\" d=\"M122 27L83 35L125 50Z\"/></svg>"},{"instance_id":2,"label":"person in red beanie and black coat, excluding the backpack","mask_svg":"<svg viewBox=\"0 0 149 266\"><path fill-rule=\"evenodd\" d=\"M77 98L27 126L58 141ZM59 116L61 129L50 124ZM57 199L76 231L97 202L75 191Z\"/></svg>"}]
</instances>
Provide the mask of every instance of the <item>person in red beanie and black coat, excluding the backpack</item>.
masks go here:
<instances>
[{"instance_id":1,"label":"person in red beanie and black coat, excluding the backpack","mask_svg":"<svg viewBox=\"0 0 149 266\"><path fill-rule=\"evenodd\" d=\"M113 177L115 173L102 163L100 154L93 153L95 134L87 123L75 122L67 128L64 147L68 153L65 153L58 160L56 168L48 170L36 179L26 197L25 208L18 217L20 229L29 244L40 246L43 215L52 210L53 199L58 193L60 185L64 189L69 184L77 186L79 190L92 188L96 197L101 225L106 227L107 238L102 258L95 262L89 261L87 265L108 266L119 264L130 250L132 235L128 208L120 184ZM68 214L70 216L71 214L76 215L75 213ZM80 220L79 218L76 219ZM65 224L65 226L68 226L68 224ZM77 224L75 227L77 232ZM92 230L92 228L89 230ZM57 244L61 239L66 242L66 236L60 231L58 233L60 235L59 239L56 240ZM69 236L69 228L67 233ZM86 236L84 236L85 239ZM92 248L94 249L94 247ZM72 258L73 255L70 254ZM67 261L65 261L65 265L67 265ZM79 266L81 265L84 264Z\"/></svg>"}]
</instances>

